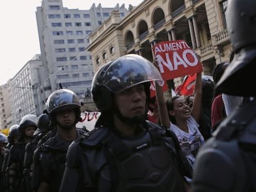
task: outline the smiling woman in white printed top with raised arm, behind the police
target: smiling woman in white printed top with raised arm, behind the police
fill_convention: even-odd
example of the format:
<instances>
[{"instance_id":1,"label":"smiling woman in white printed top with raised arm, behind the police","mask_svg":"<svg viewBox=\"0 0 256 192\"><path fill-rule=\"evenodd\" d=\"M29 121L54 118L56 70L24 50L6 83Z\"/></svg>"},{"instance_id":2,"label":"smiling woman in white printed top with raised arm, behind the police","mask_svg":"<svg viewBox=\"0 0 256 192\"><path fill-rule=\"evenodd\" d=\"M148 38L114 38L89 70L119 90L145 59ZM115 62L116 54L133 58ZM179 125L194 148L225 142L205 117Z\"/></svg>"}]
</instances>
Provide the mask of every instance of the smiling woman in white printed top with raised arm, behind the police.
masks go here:
<instances>
[{"instance_id":1,"label":"smiling woman in white printed top with raised arm, behind the police","mask_svg":"<svg viewBox=\"0 0 256 192\"><path fill-rule=\"evenodd\" d=\"M203 136L198 130L202 100L202 73L197 73L195 95L192 109L181 96L174 96L166 101L169 115L169 128L176 134L182 151L192 165L195 162L198 149L204 143Z\"/></svg>"}]
</instances>

